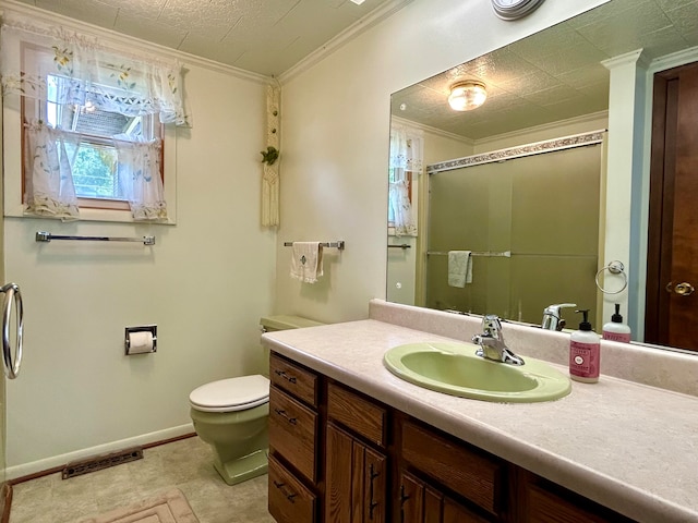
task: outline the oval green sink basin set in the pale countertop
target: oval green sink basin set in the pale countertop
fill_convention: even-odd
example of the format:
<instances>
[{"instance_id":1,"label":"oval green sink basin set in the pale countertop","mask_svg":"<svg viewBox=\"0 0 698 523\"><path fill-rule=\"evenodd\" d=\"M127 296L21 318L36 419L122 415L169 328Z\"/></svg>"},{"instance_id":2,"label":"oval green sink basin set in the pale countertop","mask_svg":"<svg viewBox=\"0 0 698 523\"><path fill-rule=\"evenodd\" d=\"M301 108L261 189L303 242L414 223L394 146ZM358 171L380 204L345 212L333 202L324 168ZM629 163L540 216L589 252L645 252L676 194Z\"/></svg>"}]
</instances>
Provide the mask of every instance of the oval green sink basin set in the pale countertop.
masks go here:
<instances>
[{"instance_id":1,"label":"oval green sink basin set in the pale countertop","mask_svg":"<svg viewBox=\"0 0 698 523\"><path fill-rule=\"evenodd\" d=\"M540 360L516 366L477 356L472 343L409 343L390 349L383 362L393 374L420 387L474 400L532 403L571 391L569 378Z\"/></svg>"}]
</instances>

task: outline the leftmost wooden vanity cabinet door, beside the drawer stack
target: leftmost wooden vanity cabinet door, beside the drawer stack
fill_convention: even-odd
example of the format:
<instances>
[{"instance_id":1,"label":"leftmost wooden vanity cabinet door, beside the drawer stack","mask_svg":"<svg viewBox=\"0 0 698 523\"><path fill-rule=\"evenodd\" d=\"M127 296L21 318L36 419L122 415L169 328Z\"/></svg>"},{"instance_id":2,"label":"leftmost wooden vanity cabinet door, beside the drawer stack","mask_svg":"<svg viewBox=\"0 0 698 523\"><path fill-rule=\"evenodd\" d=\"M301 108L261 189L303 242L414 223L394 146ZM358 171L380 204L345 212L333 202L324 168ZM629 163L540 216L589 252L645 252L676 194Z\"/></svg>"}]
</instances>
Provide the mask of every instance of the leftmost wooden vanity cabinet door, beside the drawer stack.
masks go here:
<instances>
[{"instance_id":1,"label":"leftmost wooden vanity cabinet door, beside the drawer stack","mask_svg":"<svg viewBox=\"0 0 698 523\"><path fill-rule=\"evenodd\" d=\"M386 521L386 458L332 423L327 425L325 521Z\"/></svg>"}]
</instances>

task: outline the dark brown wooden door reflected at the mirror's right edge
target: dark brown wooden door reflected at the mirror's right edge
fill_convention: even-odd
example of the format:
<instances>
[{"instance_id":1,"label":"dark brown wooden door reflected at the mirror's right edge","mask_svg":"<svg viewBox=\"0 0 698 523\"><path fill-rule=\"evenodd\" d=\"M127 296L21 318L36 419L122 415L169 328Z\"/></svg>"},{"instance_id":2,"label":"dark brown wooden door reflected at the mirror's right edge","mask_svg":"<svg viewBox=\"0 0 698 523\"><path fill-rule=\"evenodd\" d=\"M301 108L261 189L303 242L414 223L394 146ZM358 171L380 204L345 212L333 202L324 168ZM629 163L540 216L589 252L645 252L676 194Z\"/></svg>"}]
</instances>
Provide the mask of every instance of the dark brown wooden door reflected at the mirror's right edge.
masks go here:
<instances>
[{"instance_id":1,"label":"dark brown wooden door reflected at the mirror's right edge","mask_svg":"<svg viewBox=\"0 0 698 523\"><path fill-rule=\"evenodd\" d=\"M654 75L645 340L698 351L698 63Z\"/></svg>"}]
</instances>

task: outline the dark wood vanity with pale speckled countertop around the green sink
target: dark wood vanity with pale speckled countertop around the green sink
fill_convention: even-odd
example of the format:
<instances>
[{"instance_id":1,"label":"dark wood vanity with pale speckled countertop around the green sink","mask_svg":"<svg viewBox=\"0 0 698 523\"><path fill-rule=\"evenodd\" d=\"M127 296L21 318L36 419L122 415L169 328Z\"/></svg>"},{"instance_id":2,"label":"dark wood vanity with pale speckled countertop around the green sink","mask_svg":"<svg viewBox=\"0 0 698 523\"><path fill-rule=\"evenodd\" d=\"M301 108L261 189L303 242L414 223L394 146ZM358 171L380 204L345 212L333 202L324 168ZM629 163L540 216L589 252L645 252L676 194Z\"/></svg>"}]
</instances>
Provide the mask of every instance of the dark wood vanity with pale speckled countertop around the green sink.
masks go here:
<instances>
[{"instance_id":1,"label":"dark wood vanity with pale speckled countertop around the green sink","mask_svg":"<svg viewBox=\"0 0 698 523\"><path fill-rule=\"evenodd\" d=\"M603 375L551 402L456 398L399 379L383 354L467 340L479 321L377 301L370 317L263 337L279 523L698 521L695 396ZM524 357L566 341L537 333L527 352L530 333L504 328Z\"/></svg>"}]
</instances>

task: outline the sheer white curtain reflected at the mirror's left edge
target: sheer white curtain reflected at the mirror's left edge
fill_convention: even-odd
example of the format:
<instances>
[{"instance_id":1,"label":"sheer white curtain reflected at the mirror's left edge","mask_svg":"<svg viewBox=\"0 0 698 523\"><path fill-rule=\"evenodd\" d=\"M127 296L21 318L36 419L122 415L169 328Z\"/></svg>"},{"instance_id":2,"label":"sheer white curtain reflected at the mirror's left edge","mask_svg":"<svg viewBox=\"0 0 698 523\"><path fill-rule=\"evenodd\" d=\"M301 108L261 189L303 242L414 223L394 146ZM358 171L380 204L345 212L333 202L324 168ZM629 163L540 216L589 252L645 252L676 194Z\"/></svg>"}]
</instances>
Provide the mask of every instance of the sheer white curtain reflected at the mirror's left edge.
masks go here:
<instances>
[{"instance_id":1,"label":"sheer white curtain reflected at the mirror's left edge","mask_svg":"<svg viewBox=\"0 0 698 523\"><path fill-rule=\"evenodd\" d=\"M417 223L412 215L407 173L411 172L413 178L421 174L424 155L423 142L423 133L419 130L402 125L390 126L388 205L396 236L417 236Z\"/></svg>"}]
</instances>

